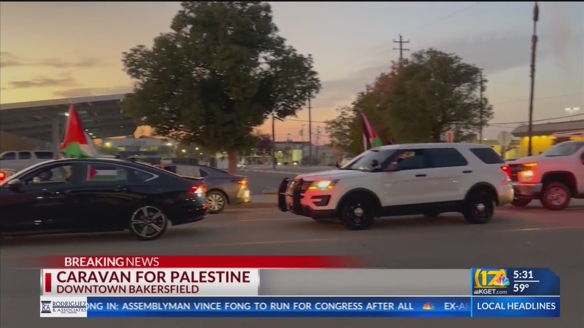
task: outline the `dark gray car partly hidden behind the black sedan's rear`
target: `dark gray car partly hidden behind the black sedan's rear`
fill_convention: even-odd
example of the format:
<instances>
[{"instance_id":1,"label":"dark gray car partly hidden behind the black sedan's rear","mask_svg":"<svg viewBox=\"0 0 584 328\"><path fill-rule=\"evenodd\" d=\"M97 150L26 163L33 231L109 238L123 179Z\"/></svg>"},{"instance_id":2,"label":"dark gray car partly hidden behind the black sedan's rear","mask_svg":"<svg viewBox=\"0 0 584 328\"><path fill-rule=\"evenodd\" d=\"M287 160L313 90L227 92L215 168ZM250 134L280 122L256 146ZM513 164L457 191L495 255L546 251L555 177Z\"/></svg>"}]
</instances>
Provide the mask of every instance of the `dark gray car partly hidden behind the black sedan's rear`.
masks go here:
<instances>
[{"instance_id":1,"label":"dark gray car partly hidden behind the black sedan's rear","mask_svg":"<svg viewBox=\"0 0 584 328\"><path fill-rule=\"evenodd\" d=\"M161 165L155 165L161 167ZM221 213L225 206L248 203L248 180L206 165L171 164L162 168L181 176L202 177L207 184L207 204L211 214Z\"/></svg>"}]
</instances>

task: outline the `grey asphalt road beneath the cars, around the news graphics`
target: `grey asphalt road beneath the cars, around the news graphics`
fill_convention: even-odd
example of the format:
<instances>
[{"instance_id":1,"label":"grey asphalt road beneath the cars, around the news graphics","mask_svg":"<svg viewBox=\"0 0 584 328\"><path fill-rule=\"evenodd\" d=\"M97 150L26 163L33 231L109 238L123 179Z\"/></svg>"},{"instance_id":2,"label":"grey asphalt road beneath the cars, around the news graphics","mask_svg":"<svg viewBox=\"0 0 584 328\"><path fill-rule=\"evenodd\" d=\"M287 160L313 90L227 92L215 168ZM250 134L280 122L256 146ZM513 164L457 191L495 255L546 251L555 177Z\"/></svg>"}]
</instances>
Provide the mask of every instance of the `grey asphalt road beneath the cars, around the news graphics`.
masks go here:
<instances>
[{"instance_id":1,"label":"grey asphalt road beneath the cars, around the news graphics","mask_svg":"<svg viewBox=\"0 0 584 328\"><path fill-rule=\"evenodd\" d=\"M176 226L153 242L126 233L4 238L0 248L0 326L20 327L440 327L584 326L584 209L500 208L487 225L458 215L380 219L369 231L346 231L273 208L231 209ZM550 267L561 277L559 319L41 319L39 271L29 256L63 255L353 255L378 267Z\"/></svg>"}]
</instances>

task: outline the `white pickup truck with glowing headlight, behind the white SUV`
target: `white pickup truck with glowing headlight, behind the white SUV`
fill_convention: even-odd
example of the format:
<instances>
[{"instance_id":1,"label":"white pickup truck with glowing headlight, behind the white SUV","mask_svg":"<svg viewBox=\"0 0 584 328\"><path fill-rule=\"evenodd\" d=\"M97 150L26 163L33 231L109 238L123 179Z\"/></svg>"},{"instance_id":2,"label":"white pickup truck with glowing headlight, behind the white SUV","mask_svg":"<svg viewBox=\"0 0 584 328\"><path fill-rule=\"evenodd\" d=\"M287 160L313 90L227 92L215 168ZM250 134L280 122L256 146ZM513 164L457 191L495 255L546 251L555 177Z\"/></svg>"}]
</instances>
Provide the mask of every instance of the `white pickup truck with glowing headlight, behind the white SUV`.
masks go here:
<instances>
[{"instance_id":1,"label":"white pickup truck with glowing headlight, behind the white SUV","mask_svg":"<svg viewBox=\"0 0 584 328\"><path fill-rule=\"evenodd\" d=\"M513 205L538 199L549 210L564 210L584 198L584 141L565 141L538 156L507 162L515 190Z\"/></svg>"}]
</instances>

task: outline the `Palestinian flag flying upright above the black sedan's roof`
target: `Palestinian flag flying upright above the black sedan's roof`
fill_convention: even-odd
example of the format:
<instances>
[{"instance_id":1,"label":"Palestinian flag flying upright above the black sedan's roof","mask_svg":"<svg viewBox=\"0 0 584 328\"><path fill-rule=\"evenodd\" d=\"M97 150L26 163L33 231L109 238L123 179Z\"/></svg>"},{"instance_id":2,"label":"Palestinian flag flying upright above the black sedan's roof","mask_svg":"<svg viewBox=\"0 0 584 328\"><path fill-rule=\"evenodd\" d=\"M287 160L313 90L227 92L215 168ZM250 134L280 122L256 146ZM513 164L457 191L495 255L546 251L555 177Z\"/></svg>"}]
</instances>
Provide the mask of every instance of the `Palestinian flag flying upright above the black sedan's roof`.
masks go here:
<instances>
[{"instance_id":1,"label":"Palestinian flag flying upright above the black sedan's roof","mask_svg":"<svg viewBox=\"0 0 584 328\"><path fill-rule=\"evenodd\" d=\"M65 155L75 158L97 157L98 155L93 140L85 132L79 114L73 105L69 108L65 139L60 150Z\"/></svg>"}]
</instances>

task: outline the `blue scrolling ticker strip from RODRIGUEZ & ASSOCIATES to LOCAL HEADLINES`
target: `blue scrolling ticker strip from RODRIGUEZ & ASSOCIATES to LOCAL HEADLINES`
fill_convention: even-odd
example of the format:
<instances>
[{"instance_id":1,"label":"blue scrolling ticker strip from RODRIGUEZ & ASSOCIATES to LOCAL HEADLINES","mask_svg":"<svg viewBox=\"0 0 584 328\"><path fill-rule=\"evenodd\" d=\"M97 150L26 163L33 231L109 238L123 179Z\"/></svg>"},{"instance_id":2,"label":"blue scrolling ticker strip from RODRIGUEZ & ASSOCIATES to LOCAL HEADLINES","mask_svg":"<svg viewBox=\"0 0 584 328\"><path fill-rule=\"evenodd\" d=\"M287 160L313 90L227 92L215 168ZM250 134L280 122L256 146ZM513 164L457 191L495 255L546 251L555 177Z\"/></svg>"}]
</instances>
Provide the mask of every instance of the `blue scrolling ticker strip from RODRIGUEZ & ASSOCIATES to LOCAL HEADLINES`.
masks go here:
<instances>
[{"instance_id":1,"label":"blue scrolling ticker strip from RODRIGUEZ & ASSOCIATES to LOCAL HEADLINES","mask_svg":"<svg viewBox=\"0 0 584 328\"><path fill-rule=\"evenodd\" d=\"M40 296L41 317L559 317L559 296Z\"/></svg>"}]
</instances>

